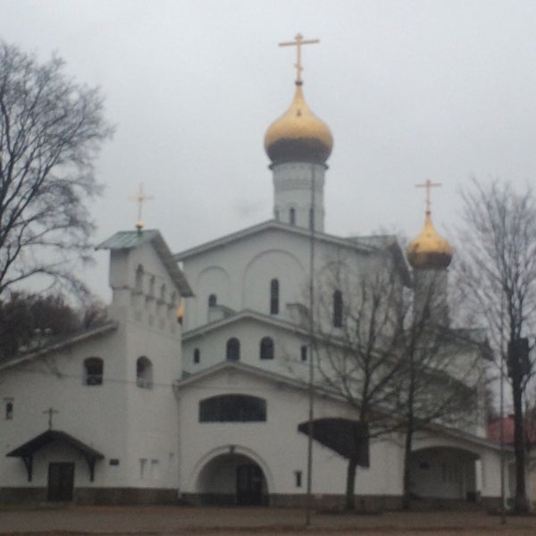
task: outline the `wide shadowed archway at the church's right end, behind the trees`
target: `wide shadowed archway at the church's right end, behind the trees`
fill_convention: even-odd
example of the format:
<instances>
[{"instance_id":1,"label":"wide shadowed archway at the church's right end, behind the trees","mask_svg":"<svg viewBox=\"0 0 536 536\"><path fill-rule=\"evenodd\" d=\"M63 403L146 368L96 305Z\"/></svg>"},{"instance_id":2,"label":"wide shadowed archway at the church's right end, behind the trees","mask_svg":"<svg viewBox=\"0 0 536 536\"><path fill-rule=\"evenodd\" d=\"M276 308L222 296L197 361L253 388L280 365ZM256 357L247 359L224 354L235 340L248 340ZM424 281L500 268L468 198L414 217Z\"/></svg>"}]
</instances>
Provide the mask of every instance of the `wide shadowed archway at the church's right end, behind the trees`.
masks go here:
<instances>
[{"instance_id":1,"label":"wide shadowed archway at the church's right end, behind the trees","mask_svg":"<svg viewBox=\"0 0 536 536\"><path fill-rule=\"evenodd\" d=\"M411 456L415 498L475 501L479 495L479 456L463 448L423 448Z\"/></svg>"}]
</instances>

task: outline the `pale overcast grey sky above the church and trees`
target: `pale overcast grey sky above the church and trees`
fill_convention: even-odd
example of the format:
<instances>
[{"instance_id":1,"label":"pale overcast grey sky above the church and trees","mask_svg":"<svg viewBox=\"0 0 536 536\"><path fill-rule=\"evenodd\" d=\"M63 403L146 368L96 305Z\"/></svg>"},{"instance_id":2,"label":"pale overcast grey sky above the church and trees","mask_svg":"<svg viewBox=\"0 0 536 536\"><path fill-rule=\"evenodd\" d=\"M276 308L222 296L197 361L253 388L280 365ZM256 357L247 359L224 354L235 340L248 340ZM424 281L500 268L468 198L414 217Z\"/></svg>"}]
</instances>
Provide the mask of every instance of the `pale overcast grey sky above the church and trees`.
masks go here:
<instances>
[{"instance_id":1,"label":"pale overcast grey sky above the church and trees","mask_svg":"<svg viewBox=\"0 0 536 536\"><path fill-rule=\"evenodd\" d=\"M410 238L423 190L448 237L459 187L536 177L533 0L0 0L0 38L100 86L117 126L97 162L96 241L146 228L173 251L272 217L264 132L289 106L305 46L306 101L334 138L326 230ZM106 254L88 281L106 296Z\"/></svg>"}]
</instances>

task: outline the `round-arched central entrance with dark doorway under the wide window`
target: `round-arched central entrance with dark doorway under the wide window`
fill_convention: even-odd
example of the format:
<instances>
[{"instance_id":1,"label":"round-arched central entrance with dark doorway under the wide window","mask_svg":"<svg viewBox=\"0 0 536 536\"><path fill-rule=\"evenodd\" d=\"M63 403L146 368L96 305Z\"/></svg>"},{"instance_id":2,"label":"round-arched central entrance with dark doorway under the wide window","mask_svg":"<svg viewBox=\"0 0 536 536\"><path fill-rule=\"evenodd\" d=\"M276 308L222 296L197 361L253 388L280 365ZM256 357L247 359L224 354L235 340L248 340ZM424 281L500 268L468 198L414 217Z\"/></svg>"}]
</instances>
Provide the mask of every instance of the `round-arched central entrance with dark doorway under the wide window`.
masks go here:
<instances>
[{"instance_id":1,"label":"round-arched central entrance with dark doorway under the wide window","mask_svg":"<svg viewBox=\"0 0 536 536\"><path fill-rule=\"evenodd\" d=\"M229 452L215 456L197 477L197 496L204 505L267 506L263 470L249 456Z\"/></svg>"}]
</instances>

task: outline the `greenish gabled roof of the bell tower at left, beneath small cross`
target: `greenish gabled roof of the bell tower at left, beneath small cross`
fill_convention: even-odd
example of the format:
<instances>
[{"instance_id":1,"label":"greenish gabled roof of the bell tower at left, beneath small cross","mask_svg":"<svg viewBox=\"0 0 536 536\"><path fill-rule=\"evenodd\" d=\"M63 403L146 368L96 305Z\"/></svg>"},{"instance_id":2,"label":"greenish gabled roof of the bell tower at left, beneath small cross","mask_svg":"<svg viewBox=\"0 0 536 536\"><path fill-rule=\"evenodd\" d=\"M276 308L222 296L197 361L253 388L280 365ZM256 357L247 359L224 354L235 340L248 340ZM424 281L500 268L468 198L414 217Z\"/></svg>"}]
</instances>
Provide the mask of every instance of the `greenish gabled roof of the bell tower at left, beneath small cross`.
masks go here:
<instances>
[{"instance_id":1,"label":"greenish gabled roof of the bell tower at left, beneath small cross","mask_svg":"<svg viewBox=\"0 0 536 536\"><path fill-rule=\"evenodd\" d=\"M155 248L156 254L160 257L173 284L180 291L180 295L183 297L194 296L184 273L177 265L177 261L173 258L172 252L159 230L120 230L109 239L101 242L96 249L134 249L147 243Z\"/></svg>"}]
</instances>

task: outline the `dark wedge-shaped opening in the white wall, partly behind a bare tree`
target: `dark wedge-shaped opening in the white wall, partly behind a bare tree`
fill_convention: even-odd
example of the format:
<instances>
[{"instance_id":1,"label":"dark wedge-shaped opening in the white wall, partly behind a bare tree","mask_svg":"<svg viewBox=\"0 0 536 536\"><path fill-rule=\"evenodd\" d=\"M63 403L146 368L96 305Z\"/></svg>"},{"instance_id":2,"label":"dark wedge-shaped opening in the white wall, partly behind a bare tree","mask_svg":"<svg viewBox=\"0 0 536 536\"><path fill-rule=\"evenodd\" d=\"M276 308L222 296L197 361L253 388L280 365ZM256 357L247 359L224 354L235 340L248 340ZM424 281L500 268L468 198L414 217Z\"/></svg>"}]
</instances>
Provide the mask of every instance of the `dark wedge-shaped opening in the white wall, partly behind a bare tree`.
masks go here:
<instances>
[{"instance_id":1,"label":"dark wedge-shaped opening in the white wall, partly behind a bare tree","mask_svg":"<svg viewBox=\"0 0 536 536\"><path fill-rule=\"evenodd\" d=\"M309 422L297 425L297 430L309 435ZM365 424L351 419L332 417L313 421L313 439L331 448L357 465L369 466L369 437Z\"/></svg>"}]
</instances>

